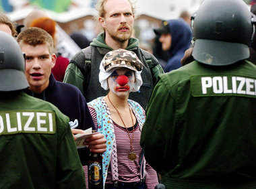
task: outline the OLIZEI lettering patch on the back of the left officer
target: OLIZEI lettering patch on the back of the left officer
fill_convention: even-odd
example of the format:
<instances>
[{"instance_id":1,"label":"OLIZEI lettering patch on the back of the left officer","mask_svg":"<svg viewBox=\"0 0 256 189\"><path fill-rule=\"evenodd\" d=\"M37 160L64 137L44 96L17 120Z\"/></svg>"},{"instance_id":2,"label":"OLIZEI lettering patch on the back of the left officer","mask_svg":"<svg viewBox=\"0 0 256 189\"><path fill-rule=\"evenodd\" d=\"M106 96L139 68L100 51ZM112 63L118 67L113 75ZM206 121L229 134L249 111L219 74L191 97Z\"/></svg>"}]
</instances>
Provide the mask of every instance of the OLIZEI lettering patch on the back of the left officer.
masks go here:
<instances>
[{"instance_id":1,"label":"OLIZEI lettering patch on the back of the left officer","mask_svg":"<svg viewBox=\"0 0 256 189\"><path fill-rule=\"evenodd\" d=\"M55 113L12 111L0 113L0 135L14 133L55 133Z\"/></svg>"}]
</instances>

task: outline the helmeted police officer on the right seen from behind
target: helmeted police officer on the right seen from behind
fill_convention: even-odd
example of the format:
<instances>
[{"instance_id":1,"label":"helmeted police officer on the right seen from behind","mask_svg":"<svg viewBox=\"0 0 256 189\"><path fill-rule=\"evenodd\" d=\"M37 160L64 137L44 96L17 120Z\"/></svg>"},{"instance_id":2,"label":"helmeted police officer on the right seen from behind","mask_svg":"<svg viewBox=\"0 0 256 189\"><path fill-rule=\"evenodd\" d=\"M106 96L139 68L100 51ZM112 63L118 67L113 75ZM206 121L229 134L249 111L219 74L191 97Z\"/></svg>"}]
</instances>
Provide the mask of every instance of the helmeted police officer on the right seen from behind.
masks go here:
<instances>
[{"instance_id":1,"label":"helmeted police officer on the right seen from behind","mask_svg":"<svg viewBox=\"0 0 256 189\"><path fill-rule=\"evenodd\" d=\"M160 76L141 147L166 188L255 188L255 21L243 0L203 1L195 61Z\"/></svg>"}]
</instances>

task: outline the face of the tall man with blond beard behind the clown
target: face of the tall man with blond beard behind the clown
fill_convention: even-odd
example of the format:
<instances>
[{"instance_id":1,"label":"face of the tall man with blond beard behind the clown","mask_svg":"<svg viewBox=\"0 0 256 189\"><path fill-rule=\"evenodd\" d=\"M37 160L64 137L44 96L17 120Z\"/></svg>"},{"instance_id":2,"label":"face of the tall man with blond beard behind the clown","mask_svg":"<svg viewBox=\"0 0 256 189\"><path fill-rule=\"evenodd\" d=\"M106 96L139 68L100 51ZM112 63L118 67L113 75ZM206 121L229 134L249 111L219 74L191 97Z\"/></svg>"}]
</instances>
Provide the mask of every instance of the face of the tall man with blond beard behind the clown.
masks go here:
<instances>
[{"instance_id":1,"label":"face of the tall man with blond beard behind the clown","mask_svg":"<svg viewBox=\"0 0 256 189\"><path fill-rule=\"evenodd\" d=\"M106 38L125 42L133 33L134 15L127 0L108 0L104 4L105 17L99 21L106 31Z\"/></svg>"}]
</instances>

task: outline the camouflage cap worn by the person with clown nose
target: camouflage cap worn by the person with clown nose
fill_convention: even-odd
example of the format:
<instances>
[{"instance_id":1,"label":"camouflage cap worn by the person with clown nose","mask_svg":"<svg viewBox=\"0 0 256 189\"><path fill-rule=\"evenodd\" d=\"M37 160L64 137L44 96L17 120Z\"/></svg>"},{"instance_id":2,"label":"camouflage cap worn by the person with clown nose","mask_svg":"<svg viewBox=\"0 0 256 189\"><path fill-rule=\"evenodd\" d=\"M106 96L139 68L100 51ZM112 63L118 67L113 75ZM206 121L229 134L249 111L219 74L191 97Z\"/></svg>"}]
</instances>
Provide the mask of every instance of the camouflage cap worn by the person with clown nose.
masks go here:
<instances>
[{"instance_id":1,"label":"camouflage cap worn by the person with clown nose","mask_svg":"<svg viewBox=\"0 0 256 189\"><path fill-rule=\"evenodd\" d=\"M119 50L113 50L108 52L103 60L102 66L106 72L113 70L113 68L129 68L134 71L141 71L143 64L137 58L134 52L119 48Z\"/></svg>"}]
</instances>

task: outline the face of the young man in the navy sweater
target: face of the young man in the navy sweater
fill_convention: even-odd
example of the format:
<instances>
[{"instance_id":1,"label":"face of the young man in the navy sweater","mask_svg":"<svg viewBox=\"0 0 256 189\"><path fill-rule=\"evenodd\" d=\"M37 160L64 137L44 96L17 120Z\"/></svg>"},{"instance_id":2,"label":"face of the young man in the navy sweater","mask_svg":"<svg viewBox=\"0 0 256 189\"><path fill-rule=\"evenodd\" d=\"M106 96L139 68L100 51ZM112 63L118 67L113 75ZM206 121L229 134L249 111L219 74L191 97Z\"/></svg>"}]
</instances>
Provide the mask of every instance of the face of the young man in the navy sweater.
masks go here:
<instances>
[{"instance_id":1,"label":"face of the young man in the navy sweater","mask_svg":"<svg viewBox=\"0 0 256 189\"><path fill-rule=\"evenodd\" d=\"M47 44L30 46L20 45L22 52L26 54L26 78L30 84L30 90L40 94L49 86L51 69L55 66L56 55L49 53Z\"/></svg>"}]
</instances>

